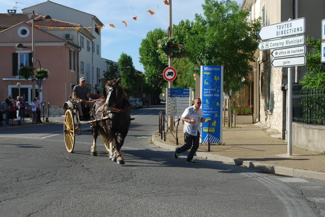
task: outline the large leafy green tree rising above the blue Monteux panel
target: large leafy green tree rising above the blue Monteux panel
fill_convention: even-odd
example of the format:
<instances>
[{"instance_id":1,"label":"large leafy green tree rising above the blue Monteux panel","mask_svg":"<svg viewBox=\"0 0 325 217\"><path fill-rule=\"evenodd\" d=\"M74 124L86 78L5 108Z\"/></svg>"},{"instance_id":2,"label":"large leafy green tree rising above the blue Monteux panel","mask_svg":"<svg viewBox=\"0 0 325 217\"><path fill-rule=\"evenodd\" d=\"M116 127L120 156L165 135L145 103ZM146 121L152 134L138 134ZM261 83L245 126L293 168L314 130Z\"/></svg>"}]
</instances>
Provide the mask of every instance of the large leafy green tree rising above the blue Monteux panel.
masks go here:
<instances>
[{"instance_id":1,"label":"large leafy green tree rising above the blue Monteux panel","mask_svg":"<svg viewBox=\"0 0 325 217\"><path fill-rule=\"evenodd\" d=\"M185 56L200 65L222 65L225 93L248 84L261 21L248 21L249 11L231 0L205 0L204 15L196 15L184 46Z\"/></svg>"}]
</instances>

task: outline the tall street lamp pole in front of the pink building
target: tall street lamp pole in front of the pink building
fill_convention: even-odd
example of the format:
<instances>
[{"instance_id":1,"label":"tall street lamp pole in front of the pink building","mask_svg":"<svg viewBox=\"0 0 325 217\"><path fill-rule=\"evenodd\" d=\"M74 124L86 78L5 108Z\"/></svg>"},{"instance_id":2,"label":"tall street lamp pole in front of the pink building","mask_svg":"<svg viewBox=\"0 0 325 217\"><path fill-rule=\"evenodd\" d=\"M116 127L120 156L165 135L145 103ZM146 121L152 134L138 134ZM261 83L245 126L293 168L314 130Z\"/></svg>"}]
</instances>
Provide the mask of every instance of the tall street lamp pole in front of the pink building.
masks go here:
<instances>
[{"instance_id":1,"label":"tall street lamp pole in front of the pink building","mask_svg":"<svg viewBox=\"0 0 325 217\"><path fill-rule=\"evenodd\" d=\"M36 91L35 91L35 70L34 70L34 60L35 60L35 39L34 39L34 23L35 23L35 12L32 11L32 14L28 16L28 18L31 18L31 64L32 64L32 92L31 92L31 99L34 99L36 97ZM49 22L52 20L52 18L49 15L46 15L43 17L43 20L45 22ZM30 48L25 47L23 44L18 43L16 45L17 50L22 50L23 48Z\"/></svg>"}]
</instances>

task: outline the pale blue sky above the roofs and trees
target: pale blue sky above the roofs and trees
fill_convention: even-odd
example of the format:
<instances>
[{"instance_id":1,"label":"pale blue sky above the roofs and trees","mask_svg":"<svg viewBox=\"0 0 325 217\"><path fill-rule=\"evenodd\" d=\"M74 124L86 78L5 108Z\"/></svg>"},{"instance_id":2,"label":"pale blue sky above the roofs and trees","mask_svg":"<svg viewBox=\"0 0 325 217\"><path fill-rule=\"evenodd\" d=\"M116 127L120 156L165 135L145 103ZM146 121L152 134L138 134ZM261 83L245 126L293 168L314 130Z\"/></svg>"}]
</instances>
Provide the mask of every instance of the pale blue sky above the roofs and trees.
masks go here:
<instances>
[{"instance_id":1,"label":"pale blue sky above the roofs and trees","mask_svg":"<svg viewBox=\"0 0 325 217\"><path fill-rule=\"evenodd\" d=\"M17 0L16 0L17 1ZM46 0L0 0L0 13L14 9L17 13ZM139 48L147 32L155 28L168 29L169 6L164 0L92 0L92 1L67 1L51 0L51 2L64 5L79 11L92 14L99 18L105 27L102 29L102 57L117 62L122 53L132 57L134 67L144 72L143 65L139 62ZM241 5L242 0L236 0ZM202 14L204 0L173 0L172 22L178 24L181 20L193 21L195 14ZM154 12L150 15L148 10ZM35 12L37 13L37 12ZM137 20L133 17L137 16ZM126 21L127 27L122 21ZM114 24L112 28L109 24Z\"/></svg>"}]
</instances>

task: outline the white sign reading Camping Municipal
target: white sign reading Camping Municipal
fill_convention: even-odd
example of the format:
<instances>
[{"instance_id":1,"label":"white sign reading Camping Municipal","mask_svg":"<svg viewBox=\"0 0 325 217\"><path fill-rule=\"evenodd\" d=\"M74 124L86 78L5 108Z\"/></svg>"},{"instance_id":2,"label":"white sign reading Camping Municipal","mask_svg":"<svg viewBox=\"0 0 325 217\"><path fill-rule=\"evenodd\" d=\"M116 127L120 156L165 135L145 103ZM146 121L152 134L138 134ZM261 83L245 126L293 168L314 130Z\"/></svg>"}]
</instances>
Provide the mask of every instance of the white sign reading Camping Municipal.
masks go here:
<instances>
[{"instance_id":1,"label":"white sign reading Camping Municipal","mask_svg":"<svg viewBox=\"0 0 325 217\"><path fill-rule=\"evenodd\" d=\"M277 49L277 48L286 48L297 45L305 44L305 35L299 35L295 37L287 37L276 40L263 41L259 43L258 49L260 51Z\"/></svg>"}]
</instances>

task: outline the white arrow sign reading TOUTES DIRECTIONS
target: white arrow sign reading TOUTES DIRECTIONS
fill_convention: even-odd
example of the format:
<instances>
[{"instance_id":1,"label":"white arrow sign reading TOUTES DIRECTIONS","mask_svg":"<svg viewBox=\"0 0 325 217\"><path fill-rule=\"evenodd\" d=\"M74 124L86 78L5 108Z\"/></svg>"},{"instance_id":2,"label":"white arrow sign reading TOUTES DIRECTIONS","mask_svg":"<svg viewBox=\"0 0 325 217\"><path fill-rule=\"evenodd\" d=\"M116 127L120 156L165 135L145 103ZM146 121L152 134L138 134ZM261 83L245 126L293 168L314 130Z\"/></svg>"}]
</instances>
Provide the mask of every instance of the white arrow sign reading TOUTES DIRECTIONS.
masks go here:
<instances>
[{"instance_id":1,"label":"white arrow sign reading TOUTES DIRECTIONS","mask_svg":"<svg viewBox=\"0 0 325 217\"><path fill-rule=\"evenodd\" d=\"M263 26L258 35L262 40L268 40L277 37L287 37L305 33L305 18L289 20L268 26Z\"/></svg>"}]
</instances>

